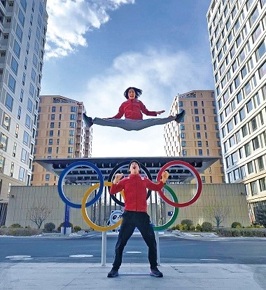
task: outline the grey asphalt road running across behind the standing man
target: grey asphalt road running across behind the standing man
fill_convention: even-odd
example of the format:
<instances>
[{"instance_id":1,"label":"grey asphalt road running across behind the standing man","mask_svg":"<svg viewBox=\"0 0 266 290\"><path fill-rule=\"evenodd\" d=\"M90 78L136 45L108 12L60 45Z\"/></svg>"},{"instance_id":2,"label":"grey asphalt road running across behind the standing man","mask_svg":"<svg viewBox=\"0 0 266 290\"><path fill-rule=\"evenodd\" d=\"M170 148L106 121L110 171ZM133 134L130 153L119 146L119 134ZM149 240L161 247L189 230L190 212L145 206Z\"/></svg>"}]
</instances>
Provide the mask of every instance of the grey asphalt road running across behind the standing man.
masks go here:
<instances>
[{"instance_id":1,"label":"grey asphalt road running across behind the standing man","mask_svg":"<svg viewBox=\"0 0 266 290\"><path fill-rule=\"evenodd\" d=\"M113 261L116 240L117 236L107 235L106 263ZM0 249L0 263L101 263L102 234L75 238L0 237ZM160 263L265 264L265 249L265 238L187 239L160 235ZM141 236L130 238L123 262L148 263L148 249Z\"/></svg>"}]
</instances>

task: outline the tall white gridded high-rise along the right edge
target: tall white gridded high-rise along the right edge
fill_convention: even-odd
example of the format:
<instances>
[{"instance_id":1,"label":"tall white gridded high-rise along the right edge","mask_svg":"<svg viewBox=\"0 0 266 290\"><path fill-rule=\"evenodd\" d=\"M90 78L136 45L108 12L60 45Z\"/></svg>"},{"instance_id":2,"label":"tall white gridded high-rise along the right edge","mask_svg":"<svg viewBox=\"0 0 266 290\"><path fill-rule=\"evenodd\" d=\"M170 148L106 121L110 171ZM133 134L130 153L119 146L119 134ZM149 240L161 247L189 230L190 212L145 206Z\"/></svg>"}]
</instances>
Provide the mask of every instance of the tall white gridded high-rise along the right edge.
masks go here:
<instances>
[{"instance_id":1,"label":"tall white gridded high-rise along the right edge","mask_svg":"<svg viewBox=\"0 0 266 290\"><path fill-rule=\"evenodd\" d=\"M265 0L213 0L207 12L226 180L244 182L251 222L266 207L265 13Z\"/></svg>"}]
</instances>

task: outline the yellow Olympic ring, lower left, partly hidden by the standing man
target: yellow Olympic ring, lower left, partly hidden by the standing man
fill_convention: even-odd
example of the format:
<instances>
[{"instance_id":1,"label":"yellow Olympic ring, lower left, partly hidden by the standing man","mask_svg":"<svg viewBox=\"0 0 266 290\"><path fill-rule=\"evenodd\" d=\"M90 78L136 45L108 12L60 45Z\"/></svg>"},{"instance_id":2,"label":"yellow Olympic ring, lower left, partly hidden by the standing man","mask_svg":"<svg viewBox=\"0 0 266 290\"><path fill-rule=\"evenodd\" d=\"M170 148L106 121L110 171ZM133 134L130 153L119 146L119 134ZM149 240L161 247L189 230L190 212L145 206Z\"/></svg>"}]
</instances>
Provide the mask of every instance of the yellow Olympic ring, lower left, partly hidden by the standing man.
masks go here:
<instances>
[{"instance_id":1,"label":"yellow Olympic ring, lower left, partly hidden by the standing man","mask_svg":"<svg viewBox=\"0 0 266 290\"><path fill-rule=\"evenodd\" d=\"M111 186L112 182L110 181L104 181L104 186ZM90 220L90 218L87 216L87 211L86 211L86 202L87 202L87 198L90 196L90 194L92 193L92 191L94 191L96 188L99 187L99 183L98 184L94 184L94 186L91 186L85 193L83 200L81 202L81 212L83 215L83 219L85 219L85 222L91 227L94 228L94 230L100 230L100 231L106 231L106 230L114 230L115 228L118 228L118 226L121 225L122 223L122 219L120 219L120 221L118 221L117 223L115 223L113 226L97 226L95 223L92 223L92 221ZM125 195L124 195L124 191L120 191L120 194L123 196L124 200L125 200Z\"/></svg>"}]
</instances>

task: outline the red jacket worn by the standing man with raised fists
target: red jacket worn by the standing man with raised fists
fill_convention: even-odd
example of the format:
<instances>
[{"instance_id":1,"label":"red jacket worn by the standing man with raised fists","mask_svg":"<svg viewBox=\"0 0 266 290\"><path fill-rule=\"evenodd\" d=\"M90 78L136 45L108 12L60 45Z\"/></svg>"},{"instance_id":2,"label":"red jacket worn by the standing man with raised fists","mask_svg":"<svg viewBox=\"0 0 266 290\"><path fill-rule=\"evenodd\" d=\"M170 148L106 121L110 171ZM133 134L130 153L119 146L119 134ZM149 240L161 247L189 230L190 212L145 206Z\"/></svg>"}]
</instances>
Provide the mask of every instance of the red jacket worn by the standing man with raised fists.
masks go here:
<instances>
[{"instance_id":1,"label":"red jacket worn by the standing man with raised fists","mask_svg":"<svg viewBox=\"0 0 266 290\"><path fill-rule=\"evenodd\" d=\"M129 177L121 179L118 184L113 184L110 189L110 194L118 193L124 190L125 195L125 210L132 212L147 212L147 191L160 191L165 184L160 181L155 184L146 177L141 177L140 174L130 174Z\"/></svg>"}]
</instances>

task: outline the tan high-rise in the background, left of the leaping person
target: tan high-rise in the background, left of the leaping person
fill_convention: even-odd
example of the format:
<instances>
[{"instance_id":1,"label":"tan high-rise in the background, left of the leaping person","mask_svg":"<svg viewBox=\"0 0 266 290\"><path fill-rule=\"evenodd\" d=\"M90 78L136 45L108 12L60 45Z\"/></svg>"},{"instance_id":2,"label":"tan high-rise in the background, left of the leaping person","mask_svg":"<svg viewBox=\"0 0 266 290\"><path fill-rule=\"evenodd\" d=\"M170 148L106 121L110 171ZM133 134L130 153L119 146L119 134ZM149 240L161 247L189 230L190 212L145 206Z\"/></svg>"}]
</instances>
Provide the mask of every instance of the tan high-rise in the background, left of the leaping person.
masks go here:
<instances>
[{"instance_id":1,"label":"tan high-rise in the background, left of the leaping person","mask_svg":"<svg viewBox=\"0 0 266 290\"><path fill-rule=\"evenodd\" d=\"M92 129L83 119L83 102L58 95L41 95L34 158L83 158L92 151ZM31 185L56 185L58 178L34 162Z\"/></svg>"}]
</instances>

